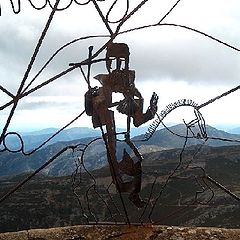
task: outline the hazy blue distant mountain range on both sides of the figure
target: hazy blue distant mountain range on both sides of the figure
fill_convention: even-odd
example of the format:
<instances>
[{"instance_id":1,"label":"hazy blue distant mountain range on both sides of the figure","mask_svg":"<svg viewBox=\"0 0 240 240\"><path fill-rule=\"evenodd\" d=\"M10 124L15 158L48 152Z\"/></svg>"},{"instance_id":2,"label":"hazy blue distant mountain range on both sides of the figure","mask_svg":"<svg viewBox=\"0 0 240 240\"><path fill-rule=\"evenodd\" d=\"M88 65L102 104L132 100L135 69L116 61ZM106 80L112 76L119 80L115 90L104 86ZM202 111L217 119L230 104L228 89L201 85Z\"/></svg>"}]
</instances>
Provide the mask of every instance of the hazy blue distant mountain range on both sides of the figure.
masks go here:
<instances>
[{"instance_id":1,"label":"hazy blue distant mountain range on both sides of the figure","mask_svg":"<svg viewBox=\"0 0 240 240\"><path fill-rule=\"evenodd\" d=\"M66 130L63 133L65 138L74 138L77 134L81 132L82 136L84 135L84 129L72 128ZM186 128L184 125L176 125L170 127L169 130L175 134L180 134L185 136ZM87 134L89 129L85 129L85 133ZM138 139L143 138L143 135L133 138L135 144L139 148L141 154L152 153L163 151L167 149L174 148L182 148L184 145L185 138L179 137L177 135L172 134L167 129L160 129L155 132L152 138L147 142L138 142ZM94 132L95 133L95 132ZM212 128L207 126L208 136L212 136L215 138L222 139L240 139L239 135L229 134L224 131L219 131L216 128ZM35 135L34 135L35 136ZM42 135L40 135L42 136ZM62 136L62 137L63 137ZM35 139L37 137L35 136ZM57 139L61 139L61 136ZM54 141L57 141L55 139ZM55 142L51 145L46 146L45 148L41 148L38 151L30 154L29 156L25 156L22 153L9 153L9 152L1 152L0 153L0 177L1 176L12 176L21 174L24 172L32 172L35 169L39 168L42 164L48 161L52 156L61 151L64 147L75 144L88 144L94 138L81 138L79 140L72 141L59 141ZM40 141L40 140L39 140ZM39 142L41 144L41 142ZM203 144L203 140L198 139L189 139L187 142L187 146ZM205 145L208 146L229 146L233 144L239 144L234 142L220 141L220 140L208 140ZM55 159L48 167L46 167L43 172L48 176L67 176L71 175L76 168L76 161L79 161L81 157L81 149L84 148L84 145L78 148L77 151L72 152L68 150L61 154L57 159ZM123 149L126 148L127 151L131 154L129 147L124 142L117 143L117 159L120 160L122 158ZM99 169L107 164L107 156L106 156L106 147L102 140L98 140L90 144L84 153L84 166L92 171L94 169Z\"/></svg>"}]
</instances>

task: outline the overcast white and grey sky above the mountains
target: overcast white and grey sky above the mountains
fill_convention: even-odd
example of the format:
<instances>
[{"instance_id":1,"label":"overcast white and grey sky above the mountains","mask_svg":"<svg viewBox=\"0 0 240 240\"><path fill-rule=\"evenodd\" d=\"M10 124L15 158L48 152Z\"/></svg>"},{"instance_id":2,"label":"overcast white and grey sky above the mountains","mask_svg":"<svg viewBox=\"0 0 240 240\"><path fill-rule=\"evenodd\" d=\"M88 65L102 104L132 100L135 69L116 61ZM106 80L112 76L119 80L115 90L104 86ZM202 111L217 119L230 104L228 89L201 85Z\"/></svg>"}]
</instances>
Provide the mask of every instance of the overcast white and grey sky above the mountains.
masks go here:
<instances>
[{"instance_id":1,"label":"overcast white and grey sky above the mountains","mask_svg":"<svg viewBox=\"0 0 240 240\"><path fill-rule=\"evenodd\" d=\"M16 1L17 2L17 1ZM1 4L0 16L0 85L16 94L47 22L51 9L35 10L29 1L21 1L21 11L14 14L10 1ZM33 0L37 6L45 1ZM51 1L52 3L54 1ZM66 6L70 0L60 1ZM79 1L83 3L84 1ZM99 1L104 15L113 0ZM140 1L131 0L129 9ZM126 0L119 0L109 14L110 21L121 18ZM172 0L149 0L122 26L121 31L157 23L176 3ZM182 0L162 23L185 25L240 48L240 2L237 0ZM110 24L114 30L116 24ZM61 46L73 39L101 35L78 41L59 52L29 89L69 68L69 63L87 58L88 47L97 51L109 38L92 2L73 4L55 13L49 30L35 59L25 86L45 62ZM202 104L239 85L240 54L197 32L174 26L157 26L120 34L115 42L124 42L130 49L130 69L136 71L136 87L148 107L153 92L159 96L158 111L179 99L192 99ZM105 52L100 57L104 57ZM85 69L86 70L86 69ZM91 86L99 85L93 77L107 73L104 63L91 67ZM79 69L21 99L11 120L9 130L31 131L48 127L63 127L84 110L87 84ZM114 96L116 99L119 96ZM1 106L11 98L0 92ZM222 129L239 127L239 92L236 91L204 108L201 113L207 124ZM0 126L4 126L11 107L0 112ZM182 123L194 118L190 108L182 107L169 114L166 123ZM126 125L125 116L116 113L119 127ZM83 116L75 126L91 127L91 118Z\"/></svg>"}]
</instances>

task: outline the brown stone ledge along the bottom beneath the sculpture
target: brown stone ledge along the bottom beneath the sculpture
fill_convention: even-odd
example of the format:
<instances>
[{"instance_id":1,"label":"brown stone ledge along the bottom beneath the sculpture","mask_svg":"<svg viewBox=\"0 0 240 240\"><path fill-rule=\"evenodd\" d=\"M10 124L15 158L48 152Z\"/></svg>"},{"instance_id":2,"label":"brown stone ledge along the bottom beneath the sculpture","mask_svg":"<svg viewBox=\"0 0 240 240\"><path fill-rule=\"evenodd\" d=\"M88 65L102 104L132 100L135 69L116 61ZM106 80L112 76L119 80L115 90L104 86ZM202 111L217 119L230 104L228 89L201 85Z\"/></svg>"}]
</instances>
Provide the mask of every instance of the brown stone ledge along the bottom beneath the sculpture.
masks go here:
<instances>
[{"instance_id":1,"label":"brown stone ledge along the bottom beneath the sculpture","mask_svg":"<svg viewBox=\"0 0 240 240\"><path fill-rule=\"evenodd\" d=\"M160 225L80 225L2 233L0 240L239 240L240 229Z\"/></svg>"}]
</instances>

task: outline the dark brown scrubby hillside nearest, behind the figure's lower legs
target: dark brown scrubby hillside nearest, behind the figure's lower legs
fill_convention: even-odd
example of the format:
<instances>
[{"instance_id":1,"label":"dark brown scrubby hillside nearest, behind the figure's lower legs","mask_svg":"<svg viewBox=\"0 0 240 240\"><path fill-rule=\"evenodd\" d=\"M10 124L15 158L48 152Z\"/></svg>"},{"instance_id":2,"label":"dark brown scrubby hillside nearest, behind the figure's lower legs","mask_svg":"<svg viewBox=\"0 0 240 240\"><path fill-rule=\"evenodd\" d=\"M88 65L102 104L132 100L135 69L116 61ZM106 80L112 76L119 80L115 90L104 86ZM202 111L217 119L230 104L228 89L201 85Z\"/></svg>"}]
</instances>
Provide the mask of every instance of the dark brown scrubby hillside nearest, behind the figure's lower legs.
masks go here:
<instances>
[{"instance_id":1,"label":"dark brown scrubby hillside nearest, behind the figure's lower legs","mask_svg":"<svg viewBox=\"0 0 240 240\"><path fill-rule=\"evenodd\" d=\"M122 194L129 221L239 228L239 201L203 178L210 176L239 196L239 156L240 146L191 146L183 154L182 149L145 154L140 194L149 205L138 209ZM26 176L2 178L0 195ZM0 231L125 222L111 181L108 166L72 177L39 174L0 204Z\"/></svg>"}]
</instances>

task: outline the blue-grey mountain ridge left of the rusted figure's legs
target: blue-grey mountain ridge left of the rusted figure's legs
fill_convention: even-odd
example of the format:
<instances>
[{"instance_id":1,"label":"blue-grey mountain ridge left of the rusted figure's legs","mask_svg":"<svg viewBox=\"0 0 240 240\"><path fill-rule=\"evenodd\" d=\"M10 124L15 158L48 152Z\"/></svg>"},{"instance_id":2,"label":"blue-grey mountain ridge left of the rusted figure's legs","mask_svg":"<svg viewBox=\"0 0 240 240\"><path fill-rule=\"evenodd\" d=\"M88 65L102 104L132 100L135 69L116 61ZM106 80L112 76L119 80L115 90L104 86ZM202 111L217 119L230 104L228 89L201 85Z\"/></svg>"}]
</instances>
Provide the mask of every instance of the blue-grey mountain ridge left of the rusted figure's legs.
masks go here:
<instances>
[{"instance_id":1,"label":"blue-grey mountain ridge left of the rusted figure's legs","mask_svg":"<svg viewBox=\"0 0 240 240\"><path fill-rule=\"evenodd\" d=\"M84 138L67 142L57 142L30 154L2 152L0 153L0 176L17 175L33 172L66 146L82 144L76 151L67 150L62 153L42 172L50 176L71 175L76 167L76 161L81 157L81 149L93 138ZM100 168L106 164L106 150L102 140L90 145L84 155L84 164L88 170Z\"/></svg>"}]
</instances>

